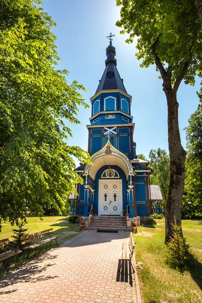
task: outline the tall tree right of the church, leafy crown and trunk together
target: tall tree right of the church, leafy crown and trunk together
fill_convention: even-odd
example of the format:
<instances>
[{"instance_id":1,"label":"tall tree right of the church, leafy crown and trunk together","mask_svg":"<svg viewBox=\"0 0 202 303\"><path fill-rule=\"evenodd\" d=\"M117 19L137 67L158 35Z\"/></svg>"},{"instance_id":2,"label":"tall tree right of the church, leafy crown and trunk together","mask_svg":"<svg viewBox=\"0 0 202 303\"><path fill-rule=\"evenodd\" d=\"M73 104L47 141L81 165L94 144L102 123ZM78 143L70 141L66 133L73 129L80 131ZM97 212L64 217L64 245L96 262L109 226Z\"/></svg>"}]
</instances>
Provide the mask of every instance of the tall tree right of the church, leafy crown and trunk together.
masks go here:
<instances>
[{"instance_id":1,"label":"tall tree right of the church, leafy crown and trunk together","mask_svg":"<svg viewBox=\"0 0 202 303\"><path fill-rule=\"evenodd\" d=\"M168 107L168 143L170 154L170 183L166 200L166 238L172 236L174 216L181 225L182 195L186 152L181 145L177 91L182 80L194 85L201 71L202 29L192 0L117 0L121 33L130 34L126 42L138 37L136 54L143 59L141 67L156 64L163 80Z\"/></svg>"}]
</instances>

